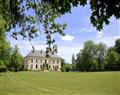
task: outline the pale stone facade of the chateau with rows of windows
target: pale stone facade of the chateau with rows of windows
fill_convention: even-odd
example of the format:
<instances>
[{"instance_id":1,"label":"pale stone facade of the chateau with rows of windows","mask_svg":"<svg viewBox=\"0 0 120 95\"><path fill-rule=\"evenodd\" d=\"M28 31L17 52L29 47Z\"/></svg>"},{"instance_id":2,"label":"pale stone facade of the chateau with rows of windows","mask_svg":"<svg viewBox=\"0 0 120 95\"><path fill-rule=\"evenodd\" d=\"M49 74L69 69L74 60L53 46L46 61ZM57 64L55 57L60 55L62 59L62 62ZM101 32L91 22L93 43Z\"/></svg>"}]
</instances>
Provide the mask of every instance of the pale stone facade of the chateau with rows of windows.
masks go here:
<instances>
[{"instance_id":1,"label":"pale stone facade of the chateau with rows of windows","mask_svg":"<svg viewBox=\"0 0 120 95\"><path fill-rule=\"evenodd\" d=\"M50 69L52 71L55 71L55 70L60 71L61 59L57 59L57 58L53 59L53 58L26 57L24 58L24 68L28 70L41 70L42 69L41 66L43 67L43 64L45 64L45 60L46 60L46 64L48 64L48 67L50 65Z\"/></svg>"}]
</instances>

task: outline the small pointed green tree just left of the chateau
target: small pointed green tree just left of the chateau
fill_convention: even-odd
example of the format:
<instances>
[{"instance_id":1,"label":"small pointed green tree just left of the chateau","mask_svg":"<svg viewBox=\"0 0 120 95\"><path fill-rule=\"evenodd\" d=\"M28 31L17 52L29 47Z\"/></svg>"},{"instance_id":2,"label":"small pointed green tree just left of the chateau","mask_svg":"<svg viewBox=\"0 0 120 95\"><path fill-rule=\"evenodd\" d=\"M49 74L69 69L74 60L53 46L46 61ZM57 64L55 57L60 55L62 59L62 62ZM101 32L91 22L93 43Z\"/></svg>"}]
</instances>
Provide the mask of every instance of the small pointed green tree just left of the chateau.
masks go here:
<instances>
[{"instance_id":1,"label":"small pointed green tree just left of the chateau","mask_svg":"<svg viewBox=\"0 0 120 95\"><path fill-rule=\"evenodd\" d=\"M19 53L19 49L17 46L12 51L9 69L13 71L19 71L22 67L23 57Z\"/></svg>"}]
</instances>

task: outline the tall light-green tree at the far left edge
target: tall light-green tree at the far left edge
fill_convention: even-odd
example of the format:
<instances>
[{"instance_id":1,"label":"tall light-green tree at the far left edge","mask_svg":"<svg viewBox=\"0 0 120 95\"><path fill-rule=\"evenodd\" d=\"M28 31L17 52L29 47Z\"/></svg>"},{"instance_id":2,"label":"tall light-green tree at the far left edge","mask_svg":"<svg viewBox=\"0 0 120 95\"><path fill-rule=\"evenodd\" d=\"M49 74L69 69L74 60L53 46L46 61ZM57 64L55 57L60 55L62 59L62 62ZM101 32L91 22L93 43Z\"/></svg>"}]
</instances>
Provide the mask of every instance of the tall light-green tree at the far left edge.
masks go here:
<instances>
[{"instance_id":1,"label":"tall light-green tree at the far left edge","mask_svg":"<svg viewBox=\"0 0 120 95\"><path fill-rule=\"evenodd\" d=\"M5 32L5 21L0 16L0 71L6 71L10 61L11 48Z\"/></svg>"}]
</instances>

